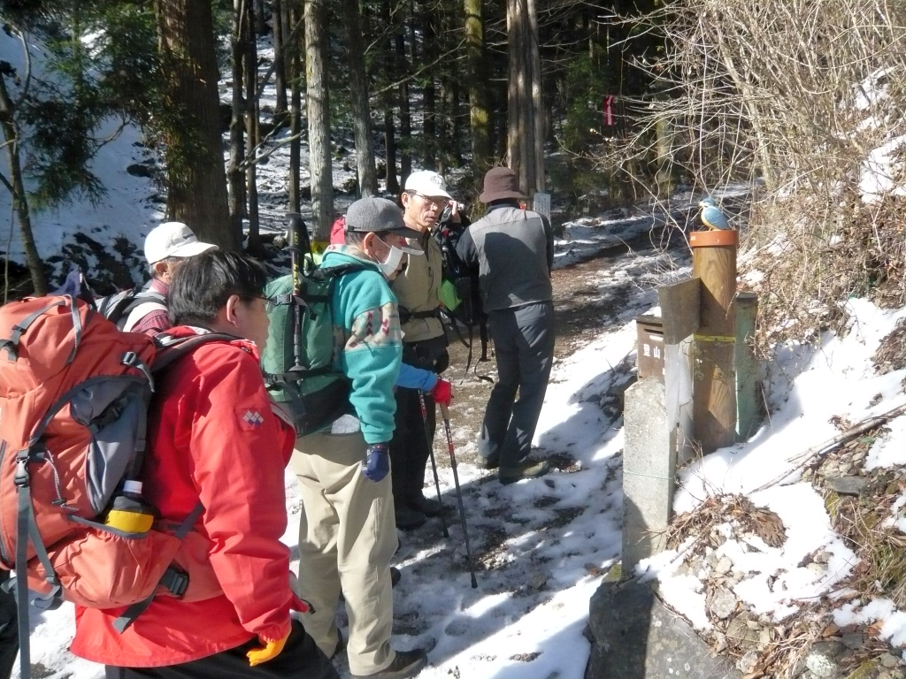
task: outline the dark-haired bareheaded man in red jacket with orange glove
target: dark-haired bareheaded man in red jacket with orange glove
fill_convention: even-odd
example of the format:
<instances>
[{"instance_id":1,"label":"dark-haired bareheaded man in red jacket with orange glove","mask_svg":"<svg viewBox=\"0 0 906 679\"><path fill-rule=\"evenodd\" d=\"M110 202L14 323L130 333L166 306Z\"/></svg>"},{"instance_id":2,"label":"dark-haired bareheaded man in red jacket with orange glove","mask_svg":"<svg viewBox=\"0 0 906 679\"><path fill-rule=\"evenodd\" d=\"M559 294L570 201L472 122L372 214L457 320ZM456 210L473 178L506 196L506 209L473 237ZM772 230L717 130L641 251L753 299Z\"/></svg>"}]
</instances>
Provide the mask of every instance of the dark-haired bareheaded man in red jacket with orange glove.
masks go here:
<instances>
[{"instance_id":1,"label":"dark-haired bareheaded man in red jacket with orange glove","mask_svg":"<svg viewBox=\"0 0 906 679\"><path fill-rule=\"evenodd\" d=\"M265 391L258 348L267 338L265 271L243 255L210 250L181 263L169 290L174 337L212 341L157 379L149 413L145 498L159 521L203 511L175 559L186 598L159 596L122 633L123 608L76 609L72 653L107 665L108 679L297 677L335 679L290 610L284 467L295 432ZM206 596L187 600L192 588Z\"/></svg>"}]
</instances>

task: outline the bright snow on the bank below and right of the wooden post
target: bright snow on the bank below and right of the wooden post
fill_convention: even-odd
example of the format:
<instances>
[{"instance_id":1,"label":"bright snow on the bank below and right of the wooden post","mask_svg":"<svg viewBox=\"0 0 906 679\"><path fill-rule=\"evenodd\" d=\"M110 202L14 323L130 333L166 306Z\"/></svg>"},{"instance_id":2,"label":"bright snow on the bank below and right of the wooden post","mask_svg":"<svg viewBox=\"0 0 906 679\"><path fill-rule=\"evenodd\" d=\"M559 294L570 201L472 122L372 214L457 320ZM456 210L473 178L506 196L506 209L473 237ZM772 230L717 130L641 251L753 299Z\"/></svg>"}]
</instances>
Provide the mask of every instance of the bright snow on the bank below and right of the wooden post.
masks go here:
<instances>
[{"instance_id":1,"label":"bright snow on the bank below and right of the wooden post","mask_svg":"<svg viewBox=\"0 0 906 679\"><path fill-rule=\"evenodd\" d=\"M751 440L709 454L680 473L676 512L694 509L709 495L743 493L783 521L782 547L769 547L757 538L739 540L725 524L728 540L713 555L727 557L728 568L744 574L731 587L738 600L776 621L831 592L858 561L831 528L822 496L810 483L797 483L801 471L797 465L807 451L839 433L834 421L855 424L906 403L906 370L876 375L872 366L881 340L906 310L885 311L863 300L850 304L853 321L844 337L827 334L817 348L778 350L768 371L772 413ZM888 427L890 435L874 443L866 468L906 464L906 417L891 420ZM777 484L765 487L771 482ZM904 505L906 495L895 502L888 525L906 532L906 520L900 515ZM819 552L823 563L805 558ZM682 572L681 553L682 549L670 550L646 559L639 570L660 580L660 591L672 607L695 626L708 629L701 595L701 580L708 574ZM893 646L906 645L906 612L897 611L887 599L847 603L834 619L841 626L880 620L882 638Z\"/></svg>"}]
</instances>

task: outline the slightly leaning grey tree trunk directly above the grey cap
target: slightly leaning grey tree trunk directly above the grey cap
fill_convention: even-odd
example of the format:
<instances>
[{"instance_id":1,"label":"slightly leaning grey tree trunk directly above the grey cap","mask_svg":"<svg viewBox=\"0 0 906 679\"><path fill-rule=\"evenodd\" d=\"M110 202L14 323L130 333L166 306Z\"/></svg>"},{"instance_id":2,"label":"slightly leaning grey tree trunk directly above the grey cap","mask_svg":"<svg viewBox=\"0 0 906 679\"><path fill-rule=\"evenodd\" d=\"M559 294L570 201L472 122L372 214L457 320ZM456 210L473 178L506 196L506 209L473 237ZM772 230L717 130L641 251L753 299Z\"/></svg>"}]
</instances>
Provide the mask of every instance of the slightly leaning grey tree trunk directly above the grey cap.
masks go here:
<instances>
[{"instance_id":1,"label":"slightly leaning grey tree trunk directly above the grey cap","mask_svg":"<svg viewBox=\"0 0 906 679\"><path fill-rule=\"evenodd\" d=\"M352 99L352 129L355 133L355 158L359 174L359 195L375 196L378 177L374 169L374 142L371 140L371 108L368 105L368 79L361 44L359 0L342 0L346 28L346 55L349 59L349 89Z\"/></svg>"}]
</instances>

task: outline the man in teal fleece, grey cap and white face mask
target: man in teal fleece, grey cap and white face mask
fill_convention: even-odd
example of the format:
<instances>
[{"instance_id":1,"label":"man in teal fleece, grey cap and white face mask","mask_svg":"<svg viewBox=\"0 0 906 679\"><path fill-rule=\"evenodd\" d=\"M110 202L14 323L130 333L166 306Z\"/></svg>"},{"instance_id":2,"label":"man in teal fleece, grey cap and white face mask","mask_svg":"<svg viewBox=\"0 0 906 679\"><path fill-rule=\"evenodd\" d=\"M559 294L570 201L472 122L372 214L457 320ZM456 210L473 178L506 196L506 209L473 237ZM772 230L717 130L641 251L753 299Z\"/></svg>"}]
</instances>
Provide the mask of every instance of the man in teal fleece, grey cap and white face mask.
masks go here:
<instances>
[{"instance_id":1,"label":"man in teal fleece, grey cap and white face mask","mask_svg":"<svg viewBox=\"0 0 906 679\"><path fill-rule=\"evenodd\" d=\"M336 279L331 298L334 368L352 385L354 415L296 442L302 484L300 596L311 602L305 630L329 656L340 650L335 613L340 592L349 613L346 646L353 679L403 679L428 662L424 651L390 647L390 559L397 549L388 442L393 435L402 337L388 280L413 250L400 209L362 198L346 215L346 244L331 245L321 265L361 264Z\"/></svg>"}]
</instances>

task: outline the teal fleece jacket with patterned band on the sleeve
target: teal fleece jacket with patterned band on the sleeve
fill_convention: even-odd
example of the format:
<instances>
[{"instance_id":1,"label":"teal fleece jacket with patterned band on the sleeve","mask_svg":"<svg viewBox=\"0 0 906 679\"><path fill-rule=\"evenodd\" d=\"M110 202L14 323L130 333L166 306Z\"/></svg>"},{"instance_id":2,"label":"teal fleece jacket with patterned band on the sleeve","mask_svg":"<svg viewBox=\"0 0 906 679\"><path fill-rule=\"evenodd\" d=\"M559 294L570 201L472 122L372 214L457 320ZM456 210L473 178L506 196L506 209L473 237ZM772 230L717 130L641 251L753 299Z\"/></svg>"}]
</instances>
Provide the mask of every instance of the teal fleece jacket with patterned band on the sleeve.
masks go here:
<instances>
[{"instance_id":1,"label":"teal fleece jacket with patterned band on the sleeve","mask_svg":"<svg viewBox=\"0 0 906 679\"><path fill-rule=\"evenodd\" d=\"M376 263L358 248L331 245L321 266L361 263L366 268L333 285L333 368L350 380L349 400L369 444L390 441L396 399L393 386L402 365L397 300Z\"/></svg>"}]
</instances>

